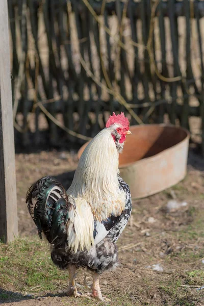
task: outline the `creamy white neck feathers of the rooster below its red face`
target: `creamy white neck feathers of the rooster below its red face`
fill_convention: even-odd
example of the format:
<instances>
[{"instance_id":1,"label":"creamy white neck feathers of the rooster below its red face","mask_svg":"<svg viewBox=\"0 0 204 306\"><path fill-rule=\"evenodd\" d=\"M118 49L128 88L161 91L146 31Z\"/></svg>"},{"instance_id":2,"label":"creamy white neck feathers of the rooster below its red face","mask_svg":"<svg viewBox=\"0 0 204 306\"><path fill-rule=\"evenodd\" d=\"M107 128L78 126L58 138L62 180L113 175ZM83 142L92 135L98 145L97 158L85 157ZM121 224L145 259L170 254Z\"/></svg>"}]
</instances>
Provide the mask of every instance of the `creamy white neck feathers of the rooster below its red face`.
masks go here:
<instances>
[{"instance_id":1,"label":"creamy white neck feathers of the rooster below its red face","mask_svg":"<svg viewBox=\"0 0 204 306\"><path fill-rule=\"evenodd\" d=\"M84 198L92 207L93 213L99 210L102 218L106 217L109 207L111 209L113 202L121 195L118 183L119 154L111 135L116 127L114 124L105 128L87 145L67 190L67 194L74 198ZM103 206L106 206L105 211ZM119 205L115 214L120 209Z\"/></svg>"}]
</instances>

